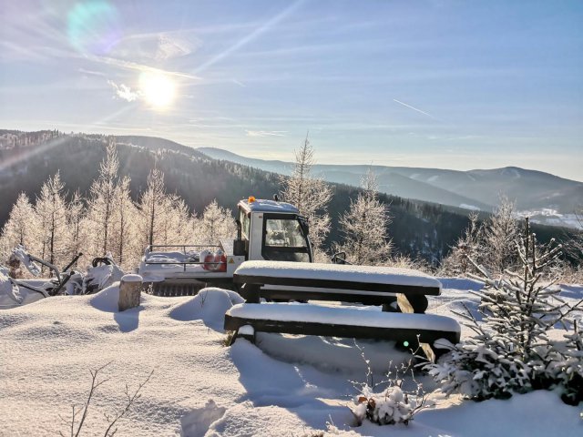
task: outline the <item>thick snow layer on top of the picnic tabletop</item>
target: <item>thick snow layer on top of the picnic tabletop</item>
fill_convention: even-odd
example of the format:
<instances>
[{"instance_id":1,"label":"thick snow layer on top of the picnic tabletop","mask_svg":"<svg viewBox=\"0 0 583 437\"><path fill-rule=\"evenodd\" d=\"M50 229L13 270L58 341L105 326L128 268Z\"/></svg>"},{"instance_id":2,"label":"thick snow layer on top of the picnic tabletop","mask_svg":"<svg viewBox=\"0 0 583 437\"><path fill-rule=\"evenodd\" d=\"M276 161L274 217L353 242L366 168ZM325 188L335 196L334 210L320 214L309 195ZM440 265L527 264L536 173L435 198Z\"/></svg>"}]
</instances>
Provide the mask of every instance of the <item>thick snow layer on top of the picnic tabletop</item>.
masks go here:
<instances>
[{"instance_id":1,"label":"thick snow layer on top of the picnic tabletop","mask_svg":"<svg viewBox=\"0 0 583 437\"><path fill-rule=\"evenodd\" d=\"M371 282L441 289L441 282L426 273L414 269L399 269L394 267L292 261L245 261L235 270L235 274L267 276L270 278Z\"/></svg>"}]
</instances>

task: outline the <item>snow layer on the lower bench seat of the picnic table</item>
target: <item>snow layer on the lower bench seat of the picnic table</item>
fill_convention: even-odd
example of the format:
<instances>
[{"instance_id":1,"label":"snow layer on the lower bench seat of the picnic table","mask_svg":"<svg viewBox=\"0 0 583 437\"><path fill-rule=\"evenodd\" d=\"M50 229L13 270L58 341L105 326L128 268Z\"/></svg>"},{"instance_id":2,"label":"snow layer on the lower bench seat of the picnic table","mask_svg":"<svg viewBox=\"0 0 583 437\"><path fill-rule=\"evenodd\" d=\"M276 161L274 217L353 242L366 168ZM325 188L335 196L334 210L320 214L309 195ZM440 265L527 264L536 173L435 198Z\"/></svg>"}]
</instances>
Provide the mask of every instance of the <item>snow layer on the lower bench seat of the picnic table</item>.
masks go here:
<instances>
[{"instance_id":1,"label":"snow layer on the lower bench seat of the picnic table","mask_svg":"<svg viewBox=\"0 0 583 437\"><path fill-rule=\"evenodd\" d=\"M312 323L445 330L459 332L456 320L435 314L366 311L363 308L332 308L302 303L245 303L227 311L232 317L258 320L302 321Z\"/></svg>"}]
</instances>

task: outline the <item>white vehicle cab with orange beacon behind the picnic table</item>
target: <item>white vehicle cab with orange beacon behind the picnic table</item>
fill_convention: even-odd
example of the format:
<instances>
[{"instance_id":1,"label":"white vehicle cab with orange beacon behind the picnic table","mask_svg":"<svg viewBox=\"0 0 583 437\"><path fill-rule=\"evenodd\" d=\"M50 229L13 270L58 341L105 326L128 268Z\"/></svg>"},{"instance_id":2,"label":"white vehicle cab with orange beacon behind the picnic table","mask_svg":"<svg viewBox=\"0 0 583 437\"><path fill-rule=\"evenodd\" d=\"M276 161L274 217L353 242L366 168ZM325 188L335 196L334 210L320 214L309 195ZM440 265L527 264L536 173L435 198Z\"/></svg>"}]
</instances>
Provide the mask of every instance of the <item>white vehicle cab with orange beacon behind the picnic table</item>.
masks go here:
<instances>
[{"instance_id":1,"label":"white vehicle cab with orange beacon behind the picnic table","mask_svg":"<svg viewBox=\"0 0 583 437\"><path fill-rule=\"evenodd\" d=\"M308 221L298 208L276 200L240 200L241 247L245 259L312 262Z\"/></svg>"}]
</instances>

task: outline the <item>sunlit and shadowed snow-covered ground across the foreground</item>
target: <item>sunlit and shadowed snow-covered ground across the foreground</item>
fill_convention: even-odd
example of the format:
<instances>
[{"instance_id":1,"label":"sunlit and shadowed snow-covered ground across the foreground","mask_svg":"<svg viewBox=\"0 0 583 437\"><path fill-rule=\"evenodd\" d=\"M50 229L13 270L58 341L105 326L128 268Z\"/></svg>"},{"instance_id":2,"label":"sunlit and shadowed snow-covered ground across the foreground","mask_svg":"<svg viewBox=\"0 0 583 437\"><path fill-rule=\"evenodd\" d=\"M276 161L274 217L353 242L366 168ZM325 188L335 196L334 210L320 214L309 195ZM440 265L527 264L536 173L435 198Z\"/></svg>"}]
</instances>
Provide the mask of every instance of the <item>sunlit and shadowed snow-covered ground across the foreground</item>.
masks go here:
<instances>
[{"instance_id":1,"label":"sunlit and shadowed snow-covered ground across the foreground","mask_svg":"<svg viewBox=\"0 0 583 437\"><path fill-rule=\"evenodd\" d=\"M467 290L480 284L443 279L443 294L429 313L454 317L462 303L476 307ZM583 288L565 288L566 299ZM118 287L97 295L62 296L0 310L0 435L69 435L71 406L87 399L89 370L104 364L81 435L103 435L104 413L124 402L125 384L142 389L117 435L135 436L578 436L583 407L563 404L557 393L535 391L507 401L444 399L428 377L435 406L408 426L353 427L347 408L364 381L366 365L353 340L259 334L258 345L224 346L223 316L240 297L219 289L196 297L143 295L141 305L119 313ZM378 308L362 308L363 314ZM467 335L467 330L462 331ZM359 340L382 378L389 361L405 355L382 341ZM65 422L59 417L65 420Z\"/></svg>"}]
</instances>

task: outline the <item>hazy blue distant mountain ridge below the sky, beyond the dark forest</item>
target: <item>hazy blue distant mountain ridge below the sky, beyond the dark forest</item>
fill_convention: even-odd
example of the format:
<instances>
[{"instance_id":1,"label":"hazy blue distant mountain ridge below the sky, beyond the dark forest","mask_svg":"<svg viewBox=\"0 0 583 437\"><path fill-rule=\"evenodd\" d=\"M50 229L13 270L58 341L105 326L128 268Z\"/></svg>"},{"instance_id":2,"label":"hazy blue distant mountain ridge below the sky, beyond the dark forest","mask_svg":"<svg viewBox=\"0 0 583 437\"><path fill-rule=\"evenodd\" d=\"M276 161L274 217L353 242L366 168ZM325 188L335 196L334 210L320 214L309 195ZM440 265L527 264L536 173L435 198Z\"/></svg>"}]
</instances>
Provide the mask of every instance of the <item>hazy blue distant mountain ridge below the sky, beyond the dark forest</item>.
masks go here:
<instances>
[{"instance_id":1,"label":"hazy blue distant mountain ridge below the sky, beyond the dark forest","mask_svg":"<svg viewBox=\"0 0 583 437\"><path fill-rule=\"evenodd\" d=\"M293 168L291 162L245 158L219 148L198 150L210 158L282 174L290 174ZM583 205L583 183L524 168L458 171L318 164L313 171L325 180L358 186L369 168L376 173L379 188L387 194L485 211L491 211L498 204L499 196L506 195L517 202L518 210L548 224L572 226L569 214Z\"/></svg>"}]
</instances>

